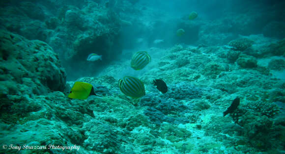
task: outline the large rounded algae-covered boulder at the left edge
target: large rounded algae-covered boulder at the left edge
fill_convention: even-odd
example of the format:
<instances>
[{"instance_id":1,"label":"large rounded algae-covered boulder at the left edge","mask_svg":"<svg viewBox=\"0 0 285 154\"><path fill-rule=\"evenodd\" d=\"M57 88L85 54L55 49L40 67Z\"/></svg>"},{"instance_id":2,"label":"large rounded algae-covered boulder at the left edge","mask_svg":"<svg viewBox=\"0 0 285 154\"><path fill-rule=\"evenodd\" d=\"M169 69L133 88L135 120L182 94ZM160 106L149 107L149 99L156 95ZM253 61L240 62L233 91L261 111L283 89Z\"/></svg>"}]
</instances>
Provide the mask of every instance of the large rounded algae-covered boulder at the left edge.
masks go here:
<instances>
[{"instance_id":1,"label":"large rounded algae-covered boulder at the left edge","mask_svg":"<svg viewBox=\"0 0 285 154\"><path fill-rule=\"evenodd\" d=\"M6 95L43 95L47 91L64 90L65 71L48 44L28 41L3 30L0 40L0 70L4 79L1 86L9 87ZM17 88L11 89L9 83Z\"/></svg>"}]
</instances>

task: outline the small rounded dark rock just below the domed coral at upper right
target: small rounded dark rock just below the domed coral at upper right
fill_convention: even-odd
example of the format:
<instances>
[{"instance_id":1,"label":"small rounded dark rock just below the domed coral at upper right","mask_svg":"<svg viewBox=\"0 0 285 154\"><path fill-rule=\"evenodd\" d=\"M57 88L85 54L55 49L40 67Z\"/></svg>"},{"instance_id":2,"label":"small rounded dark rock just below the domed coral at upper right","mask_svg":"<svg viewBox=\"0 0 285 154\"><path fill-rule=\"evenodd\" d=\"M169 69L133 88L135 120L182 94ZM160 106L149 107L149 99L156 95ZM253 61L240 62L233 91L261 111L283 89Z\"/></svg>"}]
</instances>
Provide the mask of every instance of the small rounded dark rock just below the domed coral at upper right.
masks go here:
<instances>
[{"instance_id":1,"label":"small rounded dark rock just below the domed coral at upper right","mask_svg":"<svg viewBox=\"0 0 285 154\"><path fill-rule=\"evenodd\" d=\"M257 60L254 56L242 54L237 60L237 64L242 68L255 68L257 67Z\"/></svg>"}]
</instances>

